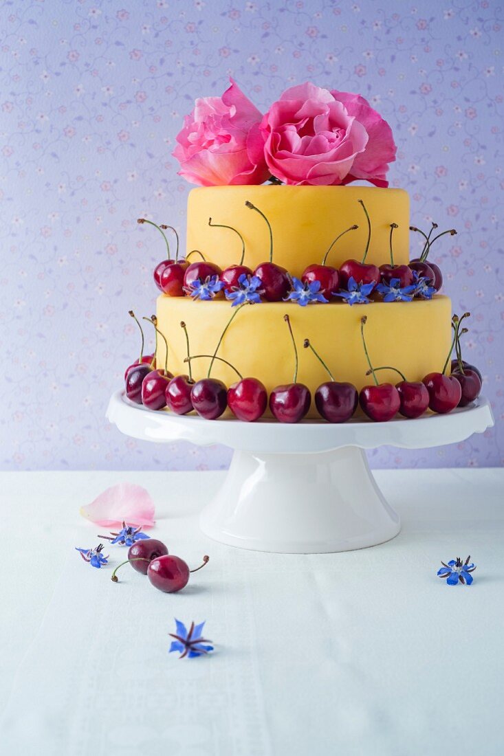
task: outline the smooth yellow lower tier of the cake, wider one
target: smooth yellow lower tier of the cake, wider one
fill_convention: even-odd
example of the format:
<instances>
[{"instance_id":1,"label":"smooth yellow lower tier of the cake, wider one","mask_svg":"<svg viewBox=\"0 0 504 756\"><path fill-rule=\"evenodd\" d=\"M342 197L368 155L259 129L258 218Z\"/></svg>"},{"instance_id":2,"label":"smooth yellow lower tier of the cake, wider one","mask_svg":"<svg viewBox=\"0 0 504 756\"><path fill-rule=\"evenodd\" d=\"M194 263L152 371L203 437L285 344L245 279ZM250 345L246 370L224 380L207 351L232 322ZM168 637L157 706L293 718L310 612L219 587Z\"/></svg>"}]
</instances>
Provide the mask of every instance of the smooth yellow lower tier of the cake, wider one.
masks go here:
<instances>
[{"instance_id":1,"label":"smooth yellow lower tier of the cake, wider one","mask_svg":"<svg viewBox=\"0 0 504 756\"><path fill-rule=\"evenodd\" d=\"M452 339L451 301L446 296L413 302L373 302L369 305L327 305L300 307L293 302L262 302L231 307L226 300L194 302L185 297L161 295L157 298L157 327L168 342L168 369L187 374L185 333L187 327L191 355L213 355L230 318L232 323L222 337L217 356L229 361L242 376L254 376L269 392L294 376L294 349L284 315L288 314L297 345L297 381L310 389L312 397L318 386L328 379L319 360L310 349L303 349L304 339L325 361L334 380L348 381L359 391L373 382L362 347L360 321L367 316L366 344L373 367L390 365L409 381L421 381L427 374L443 370ZM164 365L165 346L158 339L157 364ZM210 358L191 360L194 380L207 376ZM231 367L216 360L212 376L230 386L238 380ZM393 370L377 373L380 382L398 383ZM268 415L266 414L266 417ZM312 401L306 417L319 414Z\"/></svg>"}]
</instances>

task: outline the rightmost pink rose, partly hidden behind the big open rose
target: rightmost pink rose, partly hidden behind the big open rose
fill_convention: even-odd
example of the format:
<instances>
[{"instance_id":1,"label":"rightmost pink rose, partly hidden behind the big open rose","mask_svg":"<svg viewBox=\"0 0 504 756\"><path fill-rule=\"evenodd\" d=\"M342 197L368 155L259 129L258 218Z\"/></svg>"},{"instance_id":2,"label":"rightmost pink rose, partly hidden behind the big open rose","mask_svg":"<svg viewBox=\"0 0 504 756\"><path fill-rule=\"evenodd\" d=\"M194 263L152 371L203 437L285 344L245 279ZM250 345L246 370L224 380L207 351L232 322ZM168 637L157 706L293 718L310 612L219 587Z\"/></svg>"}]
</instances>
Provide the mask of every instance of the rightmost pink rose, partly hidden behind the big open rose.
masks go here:
<instances>
[{"instance_id":1,"label":"rightmost pink rose, partly hidden behind the big open rose","mask_svg":"<svg viewBox=\"0 0 504 756\"><path fill-rule=\"evenodd\" d=\"M369 136L366 150L356 156L343 183L349 184L350 181L361 179L370 181L377 187L387 187L388 164L394 163L397 152L392 129L360 95L335 89L331 91L331 95L344 105L349 116L354 116L359 123L362 123Z\"/></svg>"}]
</instances>

